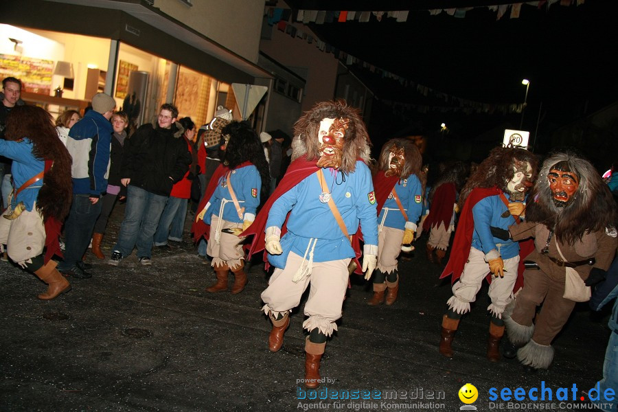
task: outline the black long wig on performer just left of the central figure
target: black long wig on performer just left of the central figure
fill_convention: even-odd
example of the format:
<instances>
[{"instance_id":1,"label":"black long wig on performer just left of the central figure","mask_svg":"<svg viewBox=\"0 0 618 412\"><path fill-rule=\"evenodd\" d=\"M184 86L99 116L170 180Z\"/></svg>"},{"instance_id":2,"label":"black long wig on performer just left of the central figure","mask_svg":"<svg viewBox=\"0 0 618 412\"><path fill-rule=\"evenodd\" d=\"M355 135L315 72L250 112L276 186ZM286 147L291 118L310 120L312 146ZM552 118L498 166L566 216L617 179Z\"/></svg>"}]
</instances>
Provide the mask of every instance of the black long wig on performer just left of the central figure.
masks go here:
<instances>
[{"instance_id":1,"label":"black long wig on performer just left of the central figure","mask_svg":"<svg viewBox=\"0 0 618 412\"><path fill-rule=\"evenodd\" d=\"M225 126L221 133L223 136L229 136L221 161L232 170L245 161L253 163L262 177L260 199L263 202L271 190L271 175L266 155L264 155L264 146L262 146L258 133L255 133L247 122L236 121Z\"/></svg>"}]
</instances>

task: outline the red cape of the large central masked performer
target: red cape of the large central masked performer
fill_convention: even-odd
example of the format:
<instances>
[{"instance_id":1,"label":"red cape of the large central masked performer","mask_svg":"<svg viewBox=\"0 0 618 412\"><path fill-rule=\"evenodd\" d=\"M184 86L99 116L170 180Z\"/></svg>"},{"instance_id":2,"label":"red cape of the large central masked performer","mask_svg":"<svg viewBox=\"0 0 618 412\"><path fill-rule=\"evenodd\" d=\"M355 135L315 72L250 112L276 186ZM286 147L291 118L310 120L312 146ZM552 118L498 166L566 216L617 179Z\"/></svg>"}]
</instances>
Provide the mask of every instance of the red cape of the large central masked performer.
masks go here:
<instances>
[{"instance_id":1,"label":"red cape of the large central masked performer","mask_svg":"<svg viewBox=\"0 0 618 412\"><path fill-rule=\"evenodd\" d=\"M275 188L275 192L271 194L268 198L258 216L255 216L255 220L253 224L246 231L242 232L240 236L253 236L253 240L249 245L249 258L253 253L258 253L260 251L264 251L264 262L266 262L266 270L268 270L268 253L264 250L264 231L266 231L266 220L268 220L268 212L271 211L271 207L273 203L277 201L277 199L282 196L282 194L288 192L292 187L300 183L303 179L311 174L314 174L319 170L316 165L317 161L307 161L306 156L299 157L288 167L286 174L283 179L279 182L277 187ZM288 214L289 216L289 214ZM281 237L283 238L284 234L287 231L287 218L283 227L281 228ZM358 233L360 233L360 229L353 236L352 240L352 248L354 248L354 252L356 253L356 264L358 266L358 270L361 268L361 264L358 262L358 258L361 256L361 249L358 244L358 241L354 241L354 238L358 238Z\"/></svg>"}]
</instances>

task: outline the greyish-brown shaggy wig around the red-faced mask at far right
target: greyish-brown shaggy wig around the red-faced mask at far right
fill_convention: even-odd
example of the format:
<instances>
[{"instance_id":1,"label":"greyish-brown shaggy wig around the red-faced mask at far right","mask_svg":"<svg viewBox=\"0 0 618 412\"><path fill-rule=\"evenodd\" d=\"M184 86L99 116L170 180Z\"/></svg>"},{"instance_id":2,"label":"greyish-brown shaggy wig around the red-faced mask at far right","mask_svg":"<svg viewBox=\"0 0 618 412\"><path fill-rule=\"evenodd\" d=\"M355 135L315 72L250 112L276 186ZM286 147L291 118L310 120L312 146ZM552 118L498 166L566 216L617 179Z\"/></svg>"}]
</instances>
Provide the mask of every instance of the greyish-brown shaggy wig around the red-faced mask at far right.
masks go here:
<instances>
[{"instance_id":1,"label":"greyish-brown shaggy wig around the red-faced mask at far right","mask_svg":"<svg viewBox=\"0 0 618 412\"><path fill-rule=\"evenodd\" d=\"M579 176L577 192L565 207L553 203L547 179L552 169L568 170ZM526 207L526 220L553 228L560 242L573 244L586 232L602 231L616 224L616 203L609 188L594 166L574 152L557 152L543 162L531 198L534 202Z\"/></svg>"}]
</instances>

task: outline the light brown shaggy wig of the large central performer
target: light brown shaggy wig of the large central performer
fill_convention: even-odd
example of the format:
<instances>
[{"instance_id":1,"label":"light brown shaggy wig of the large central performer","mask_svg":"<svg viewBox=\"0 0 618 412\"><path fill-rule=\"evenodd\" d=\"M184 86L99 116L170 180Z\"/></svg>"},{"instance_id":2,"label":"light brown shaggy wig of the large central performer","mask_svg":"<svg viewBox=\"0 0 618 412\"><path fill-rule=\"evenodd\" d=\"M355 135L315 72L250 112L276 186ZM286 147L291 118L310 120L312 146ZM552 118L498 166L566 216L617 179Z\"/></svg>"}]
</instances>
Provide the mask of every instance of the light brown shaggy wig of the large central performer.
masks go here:
<instances>
[{"instance_id":1,"label":"light brown shaggy wig of the large central performer","mask_svg":"<svg viewBox=\"0 0 618 412\"><path fill-rule=\"evenodd\" d=\"M358 109L348 106L345 100L318 103L297 120L294 124L292 161L303 155L307 155L308 161L317 161L320 158L320 122L323 119L339 118L350 120L343 138L343 161L339 170L344 173L354 172L359 158L369 164L371 142L365 122Z\"/></svg>"}]
</instances>

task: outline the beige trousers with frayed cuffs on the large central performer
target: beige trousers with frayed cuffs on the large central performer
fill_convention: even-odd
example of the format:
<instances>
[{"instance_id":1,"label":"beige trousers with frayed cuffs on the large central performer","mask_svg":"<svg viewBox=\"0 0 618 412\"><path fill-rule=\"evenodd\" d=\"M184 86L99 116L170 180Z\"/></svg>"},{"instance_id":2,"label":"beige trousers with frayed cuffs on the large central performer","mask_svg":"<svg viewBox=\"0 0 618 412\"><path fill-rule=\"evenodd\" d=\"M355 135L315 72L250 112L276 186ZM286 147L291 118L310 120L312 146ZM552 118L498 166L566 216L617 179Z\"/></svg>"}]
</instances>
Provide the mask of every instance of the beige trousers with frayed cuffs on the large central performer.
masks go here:
<instances>
[{"instance_id":1,"label":"beige trousers with frayed cuffs on the large central performer","mask_svg":"<svg viewBox=\"0 0 618 412\"><path fill-rule=\"evenodd\" d=\"M337 330L335 321L342 316L350 259L313 262L311 273L294 283L292 278L302 262L302 256L290 251L286 267L275 269L268 281L268 288L262 292L265 304L262 309L266 314L272 312L276 318L280 312L288 312L298 306L304 291L311 285L305 304L305 314L309 319L303 323L303 328L308 331L318 328L330 336L333 330Z\"/></svg>"}]
</instances>

